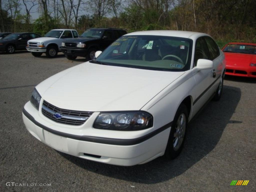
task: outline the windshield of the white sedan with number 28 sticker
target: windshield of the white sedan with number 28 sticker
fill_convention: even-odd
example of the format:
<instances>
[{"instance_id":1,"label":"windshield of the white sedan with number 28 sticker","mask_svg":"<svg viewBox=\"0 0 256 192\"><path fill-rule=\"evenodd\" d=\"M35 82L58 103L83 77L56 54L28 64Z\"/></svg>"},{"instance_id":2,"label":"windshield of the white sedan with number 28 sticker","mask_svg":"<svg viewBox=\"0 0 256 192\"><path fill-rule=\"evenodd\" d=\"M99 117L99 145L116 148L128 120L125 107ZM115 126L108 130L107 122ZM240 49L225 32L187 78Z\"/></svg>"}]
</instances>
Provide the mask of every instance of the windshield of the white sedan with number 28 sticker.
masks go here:
<instances>
[{"instance_id":1,"label":"windshield of the white sedan with number 28 sticker","mask_svg":"<svg viewBox=\"0 0 256 192\"><path fill-rule=\"evenodd\" d=\"M122 36L91 62L150 70L190 69L193 41L167 36Z\"/></svg>"}]
</instances>

